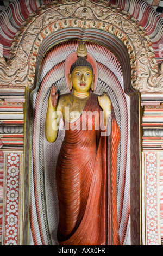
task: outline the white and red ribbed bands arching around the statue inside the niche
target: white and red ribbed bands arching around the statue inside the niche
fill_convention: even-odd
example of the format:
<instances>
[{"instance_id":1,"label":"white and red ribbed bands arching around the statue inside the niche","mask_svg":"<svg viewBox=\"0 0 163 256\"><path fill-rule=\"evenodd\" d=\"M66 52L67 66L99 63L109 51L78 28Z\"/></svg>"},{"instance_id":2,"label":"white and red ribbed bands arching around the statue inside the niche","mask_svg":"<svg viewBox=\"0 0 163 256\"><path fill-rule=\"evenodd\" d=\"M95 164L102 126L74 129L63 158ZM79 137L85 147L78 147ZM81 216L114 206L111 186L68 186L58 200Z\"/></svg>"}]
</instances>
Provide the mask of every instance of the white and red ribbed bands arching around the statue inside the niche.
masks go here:
<instances>
[{"instance_id":1,"label":"white and red ribbed bands arching around the statue inside the niche","mask_svg":"<svg viewBox=\"0 0 163 256\"><path fill-rule=\"evenodd\" d=\"M102 47L93 43L87 42L87 51L95 57L98 68L99 68L99 80L96 93L100 94L103 91L108 92L111 97L111 101L115 108L117 122L120 125L121 130L121 144L119 148L118 158L118 218L120 227L121 242L123 243L125 237L125 231L128 224L129 217L129 172L126 170L129 168L129 153L128 153L128 108L129 99L124 96L123 93L123 77L120 64L118 64L116 58L112 55L109 50L106 50L101 58L101 62L105 62L106 56L108 57L108 63L98 62L98 48ZM32 198L31 198L31 222L32 231L35 244L49 244L51 238L48 236L48 227L46 221L46 212L44 216L40 215L41 209L46 210L45 198L43 197L44 192L40 192L45 186L44 175L45 162L43 149L43 138L44 138L44 120L46 115L47 100L49 95L49 89L52 82L56 83L57 90L65 92L67 90L65 78L64 78L64 60L72 51L76 51L78 41L68 41L54 47L54 51L51 49L46 57L42 61L42 65L38 75L37 87L32 93L32 108L34 121L32 124ZM94 46L94 47L92 47ZM101 49L102 50L102 49ZM60 52L60 63L56 58L58 51ZM97 53L97 54L96 54ZM58 64L57 64L58 63ZM113 69L112 71L107 68ZM115 73L115 74L114 74ZM119 81L119 82L118 82ZM115 88L114 84L117 82L118 87ZM65 84L65 86L64 86ZM61 86L61 87L60 87ZM110 86L110 87L109 87ZM115 88L115 89L114 89ZM121 106L121 107L120 107ZM123 121L122 121L123 119ZM123 124L123 125L121 125ZM122 148L121 148L122 145ZM46 150L46 149L45 149ZM120 157L121 156L121 157ZM120 164L121 163L121 164ZM44 173L45 172L45 173ZM41 188L38 187L41 181ZM42 205L41 205L42 204ZM35 233L35 234L34 234Z\"/></svg>"}]
</instances>

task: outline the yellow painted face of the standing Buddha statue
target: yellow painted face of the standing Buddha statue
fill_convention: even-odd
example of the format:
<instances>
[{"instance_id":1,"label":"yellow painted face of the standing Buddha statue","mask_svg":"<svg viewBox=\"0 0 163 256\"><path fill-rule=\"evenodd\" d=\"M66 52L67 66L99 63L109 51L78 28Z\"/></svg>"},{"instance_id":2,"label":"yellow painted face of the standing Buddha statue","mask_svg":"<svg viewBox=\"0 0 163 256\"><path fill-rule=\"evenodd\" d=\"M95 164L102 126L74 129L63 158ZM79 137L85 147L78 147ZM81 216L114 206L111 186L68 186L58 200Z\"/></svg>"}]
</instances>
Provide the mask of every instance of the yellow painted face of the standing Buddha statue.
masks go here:
<instances>
[{"instance_id":1,"label":"yellow painted face of the standing Buddha statue","mask_svg":"<svg viewBox=\"0 0 163 256\"><path fill-rule=\"evenodd\" d=\"M76 66L71 73L73 89L79 93L89 92L94 75L88 66Z\"/></svg>"}]
</instances>

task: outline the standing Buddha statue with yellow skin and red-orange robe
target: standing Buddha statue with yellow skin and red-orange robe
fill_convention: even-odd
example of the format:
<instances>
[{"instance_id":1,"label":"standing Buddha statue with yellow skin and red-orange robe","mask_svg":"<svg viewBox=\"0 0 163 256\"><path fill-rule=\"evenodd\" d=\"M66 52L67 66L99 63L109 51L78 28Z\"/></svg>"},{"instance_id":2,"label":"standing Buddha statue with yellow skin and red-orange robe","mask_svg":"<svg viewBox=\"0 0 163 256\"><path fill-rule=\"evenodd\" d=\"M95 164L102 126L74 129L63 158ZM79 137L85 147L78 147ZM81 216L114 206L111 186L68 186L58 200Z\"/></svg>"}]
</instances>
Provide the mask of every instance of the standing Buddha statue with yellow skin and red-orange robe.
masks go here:
<instances>
[{"instance_id":1,"label":"standing Buddha statue with yellow skin and red-orange robe","mask_svg":"<svg viewBox=\"0 0 163 256\"><path fill-rule=\"evenodd\" d=\"M52 86L46 114L47 141L57 139L61 117L66 127L56 167L57 238L60 245L119 245L120 130L109 96L93 93L95 75L84 44L79 44L77 56L68 74L70 93L59 96Z\"/></svg>"}]
</instances>

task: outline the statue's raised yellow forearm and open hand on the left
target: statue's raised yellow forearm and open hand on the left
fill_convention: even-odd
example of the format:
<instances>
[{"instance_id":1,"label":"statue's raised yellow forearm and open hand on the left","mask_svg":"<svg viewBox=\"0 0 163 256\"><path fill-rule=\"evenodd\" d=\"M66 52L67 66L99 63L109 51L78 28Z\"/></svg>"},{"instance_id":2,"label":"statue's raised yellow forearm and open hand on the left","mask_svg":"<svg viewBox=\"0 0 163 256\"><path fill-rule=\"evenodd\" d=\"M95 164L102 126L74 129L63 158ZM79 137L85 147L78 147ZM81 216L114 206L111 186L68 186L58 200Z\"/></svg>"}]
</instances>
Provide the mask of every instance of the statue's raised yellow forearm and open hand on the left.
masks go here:
<instances>
[{"instance_id":1,"label":"statue's raised yellow forearm and open hand on the left","mask_svg":"<svg viewBox=\"0 0 163 256\"><path fill-rule=\"evenodd\" d=\"M60 114L57 107L53 107L51 102L51 94L48 100L48 108L45 120L45 137L48 142L54 142L58 135Z\"/></svg>"}]
</instances>

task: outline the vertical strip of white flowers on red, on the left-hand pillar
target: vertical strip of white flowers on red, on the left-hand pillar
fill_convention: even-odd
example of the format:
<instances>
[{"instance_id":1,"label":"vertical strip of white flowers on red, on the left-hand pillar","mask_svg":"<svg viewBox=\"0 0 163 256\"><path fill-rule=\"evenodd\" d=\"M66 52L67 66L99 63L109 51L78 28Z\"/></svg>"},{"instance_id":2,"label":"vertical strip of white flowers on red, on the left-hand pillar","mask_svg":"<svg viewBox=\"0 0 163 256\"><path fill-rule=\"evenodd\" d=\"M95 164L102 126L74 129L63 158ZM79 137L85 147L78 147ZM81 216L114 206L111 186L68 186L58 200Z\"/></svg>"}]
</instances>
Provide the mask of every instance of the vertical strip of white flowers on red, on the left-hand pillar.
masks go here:
<instances>
[{"instance_id":1,"label":"vertical strip of white flowers on red, on the left-hand pillar","mask_svg":"<svg viewBox=\"0 0 163 256\"><path fill-rule=\"evenodd\" d=\"M20 154L7 153L5 245L17 245Z\"/></svg>"}]
</instances>

